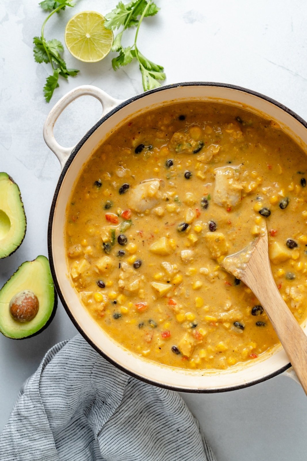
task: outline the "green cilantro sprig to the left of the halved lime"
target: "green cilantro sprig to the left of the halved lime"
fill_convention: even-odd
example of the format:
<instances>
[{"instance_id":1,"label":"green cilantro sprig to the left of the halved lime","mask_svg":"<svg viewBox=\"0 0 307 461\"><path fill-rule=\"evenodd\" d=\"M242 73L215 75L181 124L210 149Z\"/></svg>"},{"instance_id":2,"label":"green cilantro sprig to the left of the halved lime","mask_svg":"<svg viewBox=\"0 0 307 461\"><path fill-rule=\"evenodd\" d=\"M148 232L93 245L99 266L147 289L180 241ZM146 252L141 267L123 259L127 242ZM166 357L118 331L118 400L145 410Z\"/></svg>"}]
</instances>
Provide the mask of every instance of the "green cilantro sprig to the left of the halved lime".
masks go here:
<instances>
[{"instance_id":1,"label":"green cilantro sprig to the left of the halved lime","mask_svg":"<svg viewBox=\"0 0 307 461\"><path fill-rule=\"evenodd\" d=\"M44 96L47 102L52 98L53 91L58 88L58 78L59 76L68 78L74 77L79 72L77 69L68 69L64 59L61 56L61 53L64 51L64 47L60 41L57 39L46 40L44 35L44 30L47 21L52 17L54 13L58 13L60 10L64 10L66 6L73 7L67 0L43 0L40 3L41 8L44 11L51 12L41 27L41 36L34 37L34 59L38 63L45 62L46 64L50 63L52 66L52 75L49 75L46 79L44 86Z\"/></svg>"}]
</instances>

